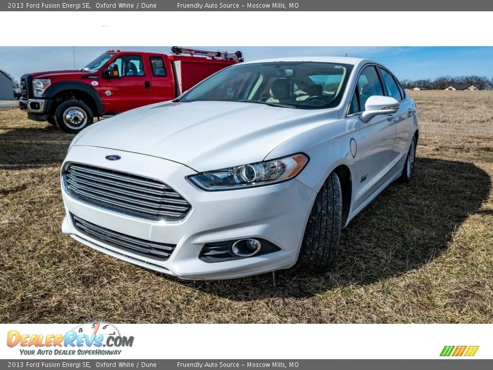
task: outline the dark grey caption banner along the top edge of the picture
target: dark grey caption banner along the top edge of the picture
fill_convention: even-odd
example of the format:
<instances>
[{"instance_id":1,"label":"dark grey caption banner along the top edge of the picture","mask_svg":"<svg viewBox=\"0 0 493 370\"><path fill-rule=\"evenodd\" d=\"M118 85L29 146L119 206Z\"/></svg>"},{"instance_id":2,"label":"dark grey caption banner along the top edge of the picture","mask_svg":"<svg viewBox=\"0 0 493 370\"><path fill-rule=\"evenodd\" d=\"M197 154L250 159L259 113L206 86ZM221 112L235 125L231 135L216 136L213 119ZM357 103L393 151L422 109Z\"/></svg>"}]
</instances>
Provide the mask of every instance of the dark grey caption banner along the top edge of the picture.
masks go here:
<instances>
[{"instance_id":1,"label":"dark grey caption banner along the top edge of the picture","mask_svg":"<svg viewBox=\"0 0 493 370\"><path fill-rule=\"evenodd\" d=\"M158 0L51 0L2 2L0 11L490 11L493 2L484 0L352 0L346 2L294 0L158 1ZM439 15L440 16L440 15Z\"/></svg>"}]
</instances>

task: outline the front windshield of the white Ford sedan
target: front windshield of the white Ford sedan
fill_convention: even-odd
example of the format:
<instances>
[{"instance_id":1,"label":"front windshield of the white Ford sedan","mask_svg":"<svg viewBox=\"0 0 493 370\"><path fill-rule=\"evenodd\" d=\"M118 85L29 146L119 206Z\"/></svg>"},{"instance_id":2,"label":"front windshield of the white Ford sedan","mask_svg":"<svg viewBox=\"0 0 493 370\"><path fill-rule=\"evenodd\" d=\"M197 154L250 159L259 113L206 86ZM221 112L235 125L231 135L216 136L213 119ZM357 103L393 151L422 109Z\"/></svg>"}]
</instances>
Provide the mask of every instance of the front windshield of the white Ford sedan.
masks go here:
<instances>
[{"instance_id":1,"label":"front windshield of the white Ford sedan","mask_svg":"<svg viewBox=\"0 0 493 370\"><path fill-rule=\"evenodd\" d=\"M245 63L225 68L179 98L302 109L331 108L344 94L352 65L323 62Z\"/></svg>"}]
</instances>

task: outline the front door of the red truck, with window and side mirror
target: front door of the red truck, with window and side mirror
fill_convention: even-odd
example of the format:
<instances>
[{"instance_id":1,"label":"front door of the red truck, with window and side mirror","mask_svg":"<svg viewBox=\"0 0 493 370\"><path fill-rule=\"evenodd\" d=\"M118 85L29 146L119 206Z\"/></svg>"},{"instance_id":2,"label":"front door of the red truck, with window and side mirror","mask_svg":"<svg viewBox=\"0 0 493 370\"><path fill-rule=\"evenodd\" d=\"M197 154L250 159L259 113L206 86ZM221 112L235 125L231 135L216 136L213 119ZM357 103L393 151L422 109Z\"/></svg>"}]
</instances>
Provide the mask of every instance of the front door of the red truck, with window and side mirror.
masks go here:
<instances>
[{"instance_id":1,"label":"front door of the red truck, with window and side mirror","mask_svg":"<svg viewBox=\"0 0 493 370\"><path fill-rule=\"evenodd\" d=\"M100 94L104 113L121 113L152 103L150 93L150 70L145 70L141 55L123 54L115 59L110 68L118 69L118 77L100 80Z\"/></svg>"}]
</instances>

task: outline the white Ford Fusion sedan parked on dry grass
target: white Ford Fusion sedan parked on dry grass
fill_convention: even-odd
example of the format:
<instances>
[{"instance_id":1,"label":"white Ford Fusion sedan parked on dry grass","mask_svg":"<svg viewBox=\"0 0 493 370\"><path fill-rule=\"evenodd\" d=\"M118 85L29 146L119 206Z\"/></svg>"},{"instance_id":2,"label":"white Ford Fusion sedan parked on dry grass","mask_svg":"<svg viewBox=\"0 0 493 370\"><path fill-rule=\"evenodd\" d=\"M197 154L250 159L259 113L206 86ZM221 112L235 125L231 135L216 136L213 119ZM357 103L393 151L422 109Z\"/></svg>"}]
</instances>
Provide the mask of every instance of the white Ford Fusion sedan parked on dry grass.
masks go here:
<instances>
[{"instance_id":1,"label":"white Ford Fusion sedan parked on dry grass","mask_svg":"<svg viewBox=\"0 0 493 370\"><path fill-rule=\"evenodd\" d=\"M418 134L414 101L374 61L233 65L75 136L62 230L182 279L324 271L340 230L410 180Z\"/></svg>"}]
</instances>

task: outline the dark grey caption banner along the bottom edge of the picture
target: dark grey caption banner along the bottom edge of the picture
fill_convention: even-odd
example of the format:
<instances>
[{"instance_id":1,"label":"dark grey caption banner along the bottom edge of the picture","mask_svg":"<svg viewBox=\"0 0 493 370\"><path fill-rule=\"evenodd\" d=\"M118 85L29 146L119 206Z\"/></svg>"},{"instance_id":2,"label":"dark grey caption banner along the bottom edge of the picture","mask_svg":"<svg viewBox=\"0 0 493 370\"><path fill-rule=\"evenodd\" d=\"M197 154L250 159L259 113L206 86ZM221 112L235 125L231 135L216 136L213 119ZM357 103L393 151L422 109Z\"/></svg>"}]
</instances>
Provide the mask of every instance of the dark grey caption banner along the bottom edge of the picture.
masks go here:
<instances>
[{"instance_id":1,"label":"dark grey caption banner along the bottom edge of the picture","mask_svg":"<svg viewBox=\"0 0 493 370\"><path fill-rule=\"evenodd\" d=\"M467 362L467 364L465 363ZM0 368L18 369L362 369L362 370L483 370L493 368L493 360L443 358L436 360L0 360Z\"/></svg>"}]
</instances>

